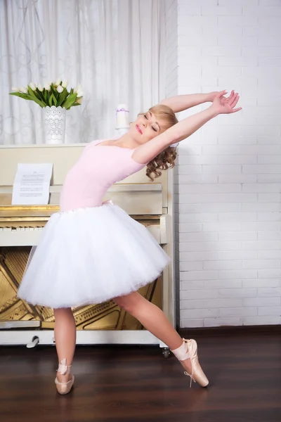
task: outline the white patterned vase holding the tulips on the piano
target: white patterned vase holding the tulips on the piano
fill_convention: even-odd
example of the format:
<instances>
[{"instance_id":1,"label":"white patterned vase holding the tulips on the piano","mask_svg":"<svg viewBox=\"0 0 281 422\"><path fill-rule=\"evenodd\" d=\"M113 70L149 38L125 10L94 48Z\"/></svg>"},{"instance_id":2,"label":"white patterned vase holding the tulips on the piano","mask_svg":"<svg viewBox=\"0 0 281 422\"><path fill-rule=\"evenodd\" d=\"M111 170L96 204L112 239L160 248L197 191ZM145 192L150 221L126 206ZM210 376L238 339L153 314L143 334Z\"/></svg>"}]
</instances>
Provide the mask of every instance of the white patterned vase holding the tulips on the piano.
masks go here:
<instances>
[{"instance_id":1,"label":"white patterned vase holding the tulips on the piano","mask_svg":"<svg viewBox=\"0 0 281 422\"><path fill-rule=\"evenodd\" d=\"M45 143L65 142L65 115L65 108L55 106L44 108Z\"/></svg>"}]
</instances>

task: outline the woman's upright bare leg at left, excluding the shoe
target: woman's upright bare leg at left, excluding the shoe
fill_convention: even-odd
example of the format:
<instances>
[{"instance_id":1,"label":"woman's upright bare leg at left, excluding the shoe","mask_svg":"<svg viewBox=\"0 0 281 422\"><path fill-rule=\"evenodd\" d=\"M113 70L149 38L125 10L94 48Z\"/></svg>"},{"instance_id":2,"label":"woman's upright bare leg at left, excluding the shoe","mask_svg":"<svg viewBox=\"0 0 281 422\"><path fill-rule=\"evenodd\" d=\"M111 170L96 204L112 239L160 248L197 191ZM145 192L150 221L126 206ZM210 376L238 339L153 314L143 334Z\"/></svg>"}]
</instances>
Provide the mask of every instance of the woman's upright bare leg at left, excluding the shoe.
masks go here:
<instances>
[{"instance_id":1,"label":"woman's upright bare leg at left, excluding the shoe","mask_svg":"<svg viewBox=\"0 0 281 422\"><path fill-rule=\"evenodd\" d=\"M66 359L67 366L72 365L76 345L76 326L70 308L53 309L55 315L55 347L58 353L58 363ZM58 381L65 383L70 380L71 374L57 373Z\"/></svg>"}]
</instances>

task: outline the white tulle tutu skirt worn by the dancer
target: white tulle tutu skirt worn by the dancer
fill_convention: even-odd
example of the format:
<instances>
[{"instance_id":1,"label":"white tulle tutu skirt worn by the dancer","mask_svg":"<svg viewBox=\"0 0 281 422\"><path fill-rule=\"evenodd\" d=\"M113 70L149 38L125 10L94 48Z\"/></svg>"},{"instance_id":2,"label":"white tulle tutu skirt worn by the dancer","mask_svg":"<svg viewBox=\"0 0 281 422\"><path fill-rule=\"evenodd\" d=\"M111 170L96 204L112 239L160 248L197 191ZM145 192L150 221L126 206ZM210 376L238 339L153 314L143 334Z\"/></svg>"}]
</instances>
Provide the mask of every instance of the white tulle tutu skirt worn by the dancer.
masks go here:
<instances>
[{"instance_id":1,"label":"white tulle tutu skirt worn by the dancer","mask_svg":"<svg viewBox=\"0 0 281 422\"><path fill-rule=\"evenodd\" d=\"M44 228L18 296L52 308L98 304L154 281L168 263L148 229L117 205L58 212Z\"/></svg>"}]
</instances>

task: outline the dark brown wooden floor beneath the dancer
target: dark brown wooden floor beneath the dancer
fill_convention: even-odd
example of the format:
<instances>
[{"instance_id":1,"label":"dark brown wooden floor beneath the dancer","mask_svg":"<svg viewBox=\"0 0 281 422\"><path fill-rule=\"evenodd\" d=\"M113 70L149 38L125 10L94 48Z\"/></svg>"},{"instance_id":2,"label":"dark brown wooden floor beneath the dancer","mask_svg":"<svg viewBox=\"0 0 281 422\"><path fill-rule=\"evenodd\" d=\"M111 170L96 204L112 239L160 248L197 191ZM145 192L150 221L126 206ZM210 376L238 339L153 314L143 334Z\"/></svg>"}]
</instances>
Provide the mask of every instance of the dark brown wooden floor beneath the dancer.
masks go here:
<instances>
[{"instance_id":1,"label":"dark brown wooden floor beneath the dancer","mask_svg":"<svg viewBox=\"0 0 281 422\"><path fill-rule=\"evenodd\" d=\"M54 347L0 347L3 422L280 422L280 335L198 338L210 378L193 384L158 347L77 347L75 387L56 393Z\"/></svg>"}]
</instances>

